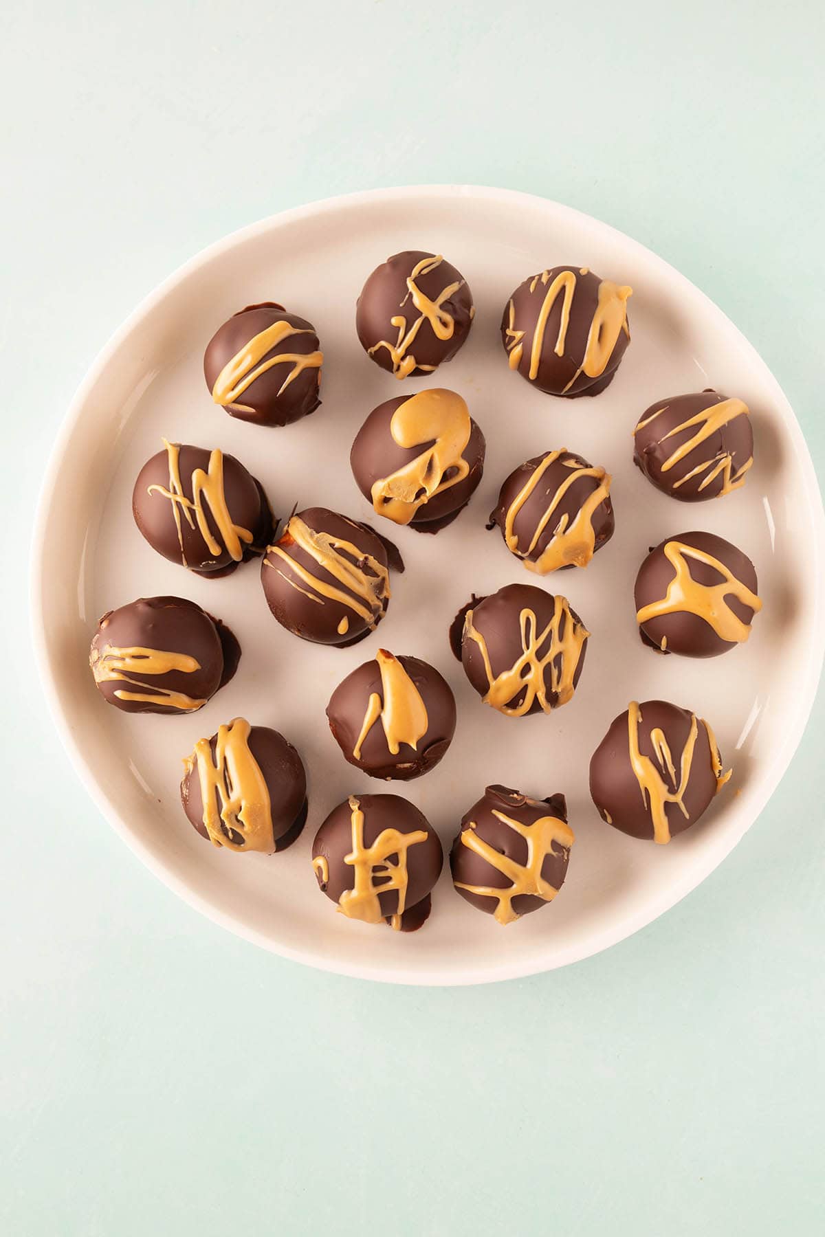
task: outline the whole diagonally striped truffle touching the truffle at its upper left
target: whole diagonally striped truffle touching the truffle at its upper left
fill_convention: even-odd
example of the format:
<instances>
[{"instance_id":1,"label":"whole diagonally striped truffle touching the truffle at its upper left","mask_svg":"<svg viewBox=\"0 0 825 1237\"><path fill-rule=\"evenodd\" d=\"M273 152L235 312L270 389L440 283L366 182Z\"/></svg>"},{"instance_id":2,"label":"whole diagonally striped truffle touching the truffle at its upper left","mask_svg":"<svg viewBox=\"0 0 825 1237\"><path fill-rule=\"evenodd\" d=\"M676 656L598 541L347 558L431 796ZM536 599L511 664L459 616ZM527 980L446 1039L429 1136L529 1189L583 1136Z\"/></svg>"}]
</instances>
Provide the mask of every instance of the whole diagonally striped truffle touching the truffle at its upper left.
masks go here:
<instances>
[{"instance_id":1,"label":"whole diagonally striped truffle touching the truffle at its upper left","mask_svg":"<svg viewBox=\"0 0 825 1237\"><path fill-rule=\"evenodd\" d=\"M261 564L267 605L282 627L315 644L355 644L377 627L390 601L391 542L327 507L287 522Z\"/></svg>"}]
</instances>

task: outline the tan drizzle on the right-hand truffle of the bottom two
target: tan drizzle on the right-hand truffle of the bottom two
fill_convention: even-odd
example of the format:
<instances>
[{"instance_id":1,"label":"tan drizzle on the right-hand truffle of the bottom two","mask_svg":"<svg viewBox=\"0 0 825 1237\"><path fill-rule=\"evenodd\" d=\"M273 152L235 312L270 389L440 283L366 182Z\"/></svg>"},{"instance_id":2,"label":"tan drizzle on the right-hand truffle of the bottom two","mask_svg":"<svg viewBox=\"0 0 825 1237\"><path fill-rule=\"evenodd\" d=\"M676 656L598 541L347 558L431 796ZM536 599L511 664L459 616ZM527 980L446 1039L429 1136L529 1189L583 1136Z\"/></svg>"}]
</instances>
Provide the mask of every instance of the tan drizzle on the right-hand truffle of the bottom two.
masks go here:
<instances>
[{"instance_id":1,"label":"tan drizzle on the right-hand truffle of the bottom two","mask_svg":"<svg viewBox=\"0 0 825 1237\"><path fill-rule=\"evenodd\" d=\"M524 839L527 842L527 862L523 865L517 863L506 855L501 855L490 842L485 842L479 837L475 833L477 828L476 823L470 821L461 830L461 845L479 855L512 883L508 888L503 889L497 889L492 884L464 884L460 881L456 881L455 886L459 889L466 889L468 893L476 893L482 898L497 898L498 905L494 910L494 919L500 924L511 924L519 918L518 913L513 910L513 898L522 894L533 894L533 897L543 898L544 902L552 902L559 892L549 881L543 878L542 867L544 866L544 860L553 850L553 842L564 846L565 850L570 850L574 841L573 830L566 821L560 820L558 816L539 816L538 820L527 825L519 820L513 820L512 816L506 816L503 811L497 811L495 808L492 809L492 814L497 820L508 825Z\"/></svg>"}]
</instances>

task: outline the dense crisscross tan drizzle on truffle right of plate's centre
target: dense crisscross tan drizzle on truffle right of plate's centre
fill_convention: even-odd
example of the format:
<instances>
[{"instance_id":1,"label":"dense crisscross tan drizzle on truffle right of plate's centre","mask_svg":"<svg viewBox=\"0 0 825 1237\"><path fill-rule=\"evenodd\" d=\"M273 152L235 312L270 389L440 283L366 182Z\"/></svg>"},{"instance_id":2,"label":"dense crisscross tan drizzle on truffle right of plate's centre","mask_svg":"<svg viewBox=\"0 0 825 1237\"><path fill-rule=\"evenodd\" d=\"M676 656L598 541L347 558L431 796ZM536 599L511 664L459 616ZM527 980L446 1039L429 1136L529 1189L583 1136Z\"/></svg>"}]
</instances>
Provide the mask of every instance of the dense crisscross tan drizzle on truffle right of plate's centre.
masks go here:
<instances>
[{"instance_id":1,"label":"dense crisscross tan drizzle on truffle right of plate's centre","mask_svg":"<svg viewBox=\"0 0 825 1237\"><path fill-rule=\"evenodd\" d=\"M472 626L472 615L474 611L468 610L464 618L464 635L475 641L484 659L489 683L489 690L482 698L485 704L508 717L523 717L524 714L529 713L536 700L538 700L543 713L550 713L553 708L566 704L573 698L573 679L581 658L584 642L590 632L575 622L566 597L553 597L553 617L538 633L536 614L527 609L521 611L522 656L515 666L497 675L492 673L487 643L481 632ZM563 621L564 635L559 636ZM543 644L545 644L544 653L541 652ZM548 689L544 682L547 669L550 673L549 694L557 696L555 705L548 700ZM522 703L511 708L510 701L515 700L522 691L524 693Z\"/></svg>"}]
</instances>

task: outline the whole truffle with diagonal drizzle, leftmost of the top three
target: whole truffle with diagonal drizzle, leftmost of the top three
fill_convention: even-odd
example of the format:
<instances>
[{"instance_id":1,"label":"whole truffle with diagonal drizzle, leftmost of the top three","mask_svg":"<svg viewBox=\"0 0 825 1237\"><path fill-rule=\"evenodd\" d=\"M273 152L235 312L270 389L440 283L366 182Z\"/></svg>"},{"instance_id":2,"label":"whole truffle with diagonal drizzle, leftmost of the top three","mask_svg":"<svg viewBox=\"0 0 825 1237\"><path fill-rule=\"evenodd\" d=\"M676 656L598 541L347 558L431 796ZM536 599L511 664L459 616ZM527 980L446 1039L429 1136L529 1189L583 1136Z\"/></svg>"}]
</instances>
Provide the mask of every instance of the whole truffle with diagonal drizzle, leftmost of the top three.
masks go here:
<instances>
[{"instance_id":1,"label":"whole truffle with diagonal drizzle, leftmost of the top three","mask_svg":"<svg viewBox=\"0 0 825 1237\"><path fill-rule=\"evenodd\" d=\"M323 360L313 324L266 301L218 328L207 345L203 372L213 400L230 417L289 426L320 404Z\"/></svg>"}]
</instances>

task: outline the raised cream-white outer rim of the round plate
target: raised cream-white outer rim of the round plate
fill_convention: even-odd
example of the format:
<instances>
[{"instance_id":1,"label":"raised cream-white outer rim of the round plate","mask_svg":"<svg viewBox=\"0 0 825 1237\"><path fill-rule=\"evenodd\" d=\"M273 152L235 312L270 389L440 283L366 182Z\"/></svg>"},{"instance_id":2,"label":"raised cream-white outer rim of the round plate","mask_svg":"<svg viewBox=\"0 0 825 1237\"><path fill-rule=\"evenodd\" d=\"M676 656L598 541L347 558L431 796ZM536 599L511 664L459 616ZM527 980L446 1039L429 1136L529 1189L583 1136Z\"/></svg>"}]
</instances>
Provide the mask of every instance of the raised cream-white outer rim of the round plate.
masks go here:
<instances>
[{"instance_id":1,"label":"raised cream-white outer rim of the round plate","mask_svg":"<svg viewBox=\"0 0 825 1237\"><path fill-rule=\"evenodd\" d=\"M753 794L746 792L746 803L742 808L748 808L747 811L742 810L742 823L741 828L727 840L730 844L721 854L714 855L714 862L709 867L699 868L695 872L690 872L685 878L679 882L673 882L667 887L667 893L652 905L648 904L643 912L637 915L628 915L621 922L621 928L618 934L616 933L616 924L612 925L610 931L596 931L591 938L584 938L579 943L580 948L568 950L566 955L554 960L549 965L537 966L534 962L528 962L523 967L513 966L512 964L502 964L500 967L494 967L485 970L485 972L479 974L476 969L458 970L456 972L444 974L442 971L422 970L416 972L397 972L391 966L370 965L370 966L351 966L348 964L341 964L338 960L330 960L329 957L322 957L313 952L303 952L302 950L291 949L284 946L282 943L275 945L268 938L262 934L251 930L246 924L235 919L233 915L225 914L224 912L216 909L205 899L200 898L189 886L184 884L169 872L148 850L143 846L131 830L126 826L120 814L118 813L115 805L106 798L106 795L98 787L89 763L80 751L79 745L75 743L72 735L72 730L68 725L68 720L64 716L56 687L54 674L52 672L52 666L48 654L48 646L46 642L46 621L42 606L42 559L46 546L46 537L48 531L48 495L52 489L52 484L57 477L61 466L61 456L66 449L66 444L72 437L74 426L79 419L82 407L89 395L94 388L103 371L105 370L109 360L118 349L121 346L124 340L131 334L135 327L168 294L168 292L177 287L178 283L183 282L190 272L194 272L204 263L209 262L213 257L219 254L230 250L237 245L242 245L246 241L254 239L256 235L261 235L272 230L273 228L287 226L294 221L302 219L309 219L313 215L324 214L330 210L335 210L341 205L357 205L359 203L375 203L375 202L392 202L393 199L409 198L437 198L444 195L459 197L484 197L494 200L508 200L513 204L521 203L522 205L529 205L532 209L547 209L552 208L554 212L560 212L562 214L569 214L576 219L594 220L595 216L588 215L584 212L576 210L574 207L568 207L564 203L554 202L549 198L542 198L537 194L523 193L517 189L500 189L486 186L471 186L471 184L429 184L429 186L408 186L408 187L395 187L387 189L366 189L356 193L339 194L330 198L324 198L318 202L308 203L301 207L293 207L288 210L280 212L278 214L270 215L266 219L259 220L257 223L250 224L245 228L237 229L230 233L228 236L213 242L205 249L200 250L183 265L181 265L176 271L173 271L166 280L157 285L143 299L137 304L137 307L129 314L129 317L121 323L118 330L110 336L108 343L98 353L94 361L89 366L89 370L80 385L78 386L67 413L63 418L61 428L58 430L57 438L52 447L48 465L43 476L43 484L37 503L37 513L35 518L35 526L31 538L31 574L30 574L30 607L32 616L32 643L35 659L38 667L41 684L43 693L46 695L47 705L52 719L54 721L57 732L59 735L61 742L67 751L72 764L80 779L80 783L87 789L89 797L95 803L101 815L109 821L109 824L115 829L120 837L126 842L129 849L141 860L141 862L173 893L176 893L183 902L199 910L203 915L210 919L213 923L219 924L223 928L229 929L235 935L241 936L244 940L251 944L259 945L266 949L268 952L275 952L289 961L302 962L307 966L313 966L318 970L329 971L336 975L344 975L351 978L371 980L376 982L388 982L388 983L402 983L406 986L429 986L429 987L459 987L469 986L476 983L494 983L508 978L524 978L529 975L538 975L545 971L557 970L562 966L568 966L573 962L581 961L585 957L590 957L597 952L604 952L604 950L617 945L620 941L626 940L635 933L646 928L648 924L653 923L667 910L675 907L684 897L686 897L693 889L695 889L724 860L730 855L733 847L740 842L745 833L751 828L753 821L757 819L759 810L762 808L756 808L756 805L748 804L748 800L753 798ZM785 422L788 424L792 442L795 449L797 459L800 469L808 477L808 508L811 520L811 524L818 532L814 538L814 544L811 547L811 553L814 555L814 615L813 626L814 630L820 633L819 641L811 643L808 648L808 669L805 694L801 700L798 701L798 708L794 715L794 725L788 727L785 732L784 741L778 748L774 760L771 766L769 774L767 777L767 784L763 784L763 789L767 788L767 795L764 798L764 804L767 804L773 795L779 781L784 776L790 763L790 760L799 746L801 736L805 731L810 711L816 698L816 691L819 687L819 679L823 670L823 663L825 661L825 570L823 569L823 559L825 555L825 508L823 507L823 497L819 490L819 482L816 479L816 471L814 469L805 438L803 435L799 422L797 421L795 413L782 390L779 382L774 377L773 372L769 370L767 364L762 360L757 350L750 343L750 340L742 334L742 332L731 322L731 319L725 314L719 306L715 304L700 288L698 288L686 276L684 276L675 267L670 266L664 259L659 257L647 246L642 245L639 241L633 240L633 238L627 236L618 229L612 228L611 224L604 223L602 220L595 220L599 226L607 233L616 235L621 240L622 245L630 245L636 249L639 254L644 255L647 261L653 261L660 268L665 270L669 276L679 285L682 285L690 296L706 303L714 313L721 315L725 322L736 332L742 343L747 346L753 362L763 372L766 379L769 380L778 402L782 403L784 409ZM762 804L762 807L764 807ZM675 896L674 896L675 893Z\"/></svg>"}]
</instances>

